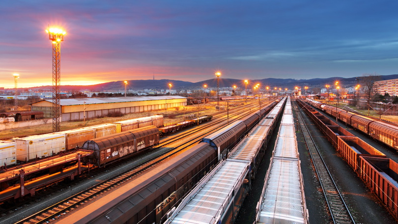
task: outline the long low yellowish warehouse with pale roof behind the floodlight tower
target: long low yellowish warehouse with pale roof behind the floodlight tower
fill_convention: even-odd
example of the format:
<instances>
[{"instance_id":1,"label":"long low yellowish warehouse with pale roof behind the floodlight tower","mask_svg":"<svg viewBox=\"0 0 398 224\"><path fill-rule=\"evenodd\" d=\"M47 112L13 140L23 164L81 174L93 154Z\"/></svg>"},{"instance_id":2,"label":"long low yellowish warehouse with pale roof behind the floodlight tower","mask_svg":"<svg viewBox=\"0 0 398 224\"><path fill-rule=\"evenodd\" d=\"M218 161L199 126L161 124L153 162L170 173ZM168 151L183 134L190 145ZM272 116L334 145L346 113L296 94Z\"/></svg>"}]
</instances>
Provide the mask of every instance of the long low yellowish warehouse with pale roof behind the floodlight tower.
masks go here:
<instances>
[{"instance_id":1,"label":"long low yellowish warehouse with pale roof behind the floodlight tower","mask_svg":"<svg viewBox=\"0 0 398 224\"><path fill-rule=\"evenodd\" d=\"M182 96L61 99L60 112L61 121L69 121L102 117L114 112L156 111L186 105L187 98ZM53 100L41 100L32 103L31 111L42 111L45 118L51 118L53 117Z\"/></svg>"}]
</instances>

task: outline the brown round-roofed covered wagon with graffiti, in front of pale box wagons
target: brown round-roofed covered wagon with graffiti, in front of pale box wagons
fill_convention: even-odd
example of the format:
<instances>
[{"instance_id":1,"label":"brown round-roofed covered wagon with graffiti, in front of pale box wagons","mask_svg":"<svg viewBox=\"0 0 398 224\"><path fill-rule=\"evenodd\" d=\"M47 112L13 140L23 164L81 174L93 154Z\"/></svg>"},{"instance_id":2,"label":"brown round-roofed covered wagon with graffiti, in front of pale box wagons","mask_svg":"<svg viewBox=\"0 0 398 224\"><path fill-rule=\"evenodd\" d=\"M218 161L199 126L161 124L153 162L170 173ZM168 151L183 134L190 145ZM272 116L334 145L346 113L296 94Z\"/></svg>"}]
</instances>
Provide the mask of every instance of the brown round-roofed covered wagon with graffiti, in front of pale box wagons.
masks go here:
<instances>
[{"instance_id":1,"label":"brown round-roofed covered wagon with graffiti, in front of pale box wagons","mask_svg":"<svg viewBox=\"0 0 398 224\"><path fill-rule=\"evenodd\" d=\"M157 144L159 144L158 128L147 126L87 140L83 143L82 149L94 152L88 158L89 163L103 167Z\"/></svg>"}]
</instances>

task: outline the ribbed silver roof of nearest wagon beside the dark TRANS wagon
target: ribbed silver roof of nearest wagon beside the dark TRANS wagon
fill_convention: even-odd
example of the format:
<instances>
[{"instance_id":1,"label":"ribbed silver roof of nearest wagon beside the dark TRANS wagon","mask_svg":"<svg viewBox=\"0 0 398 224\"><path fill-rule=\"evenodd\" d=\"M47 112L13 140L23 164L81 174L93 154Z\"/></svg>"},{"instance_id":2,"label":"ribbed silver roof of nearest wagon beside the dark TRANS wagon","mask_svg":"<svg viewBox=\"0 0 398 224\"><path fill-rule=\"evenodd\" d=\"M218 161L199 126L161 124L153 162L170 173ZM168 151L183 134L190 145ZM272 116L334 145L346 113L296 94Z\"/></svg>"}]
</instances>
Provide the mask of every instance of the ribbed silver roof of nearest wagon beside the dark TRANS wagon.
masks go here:
<instances>
[{"instance_id":1,"label":"ribbed silver roof of nearest wagon beside the dark TRANS wagon","mask_svg":"<svg viewBox=\"0 0 398 224\"><path fill-rule=\"evenodd\" d=\"M173 213L169 224L215 224L233 200L234 189L242 184L248 163L226 161L211 178L200 183Z\"/></svg>"}]
</instances>

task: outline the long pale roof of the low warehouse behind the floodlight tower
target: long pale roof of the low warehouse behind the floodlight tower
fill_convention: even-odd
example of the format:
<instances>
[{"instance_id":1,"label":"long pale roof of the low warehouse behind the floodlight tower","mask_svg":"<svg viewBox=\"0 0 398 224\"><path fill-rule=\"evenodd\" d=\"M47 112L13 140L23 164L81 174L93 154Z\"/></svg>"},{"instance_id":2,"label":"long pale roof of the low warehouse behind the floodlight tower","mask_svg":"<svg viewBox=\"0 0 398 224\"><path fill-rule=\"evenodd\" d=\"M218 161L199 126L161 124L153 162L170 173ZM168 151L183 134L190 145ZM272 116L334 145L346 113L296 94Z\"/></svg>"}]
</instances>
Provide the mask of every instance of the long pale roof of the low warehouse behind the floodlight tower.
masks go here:
<instances>
[{"instance_id":1,"label":"long pale roof of the low warehouse behind the floodlight tower","mask_svg":"<svg viewBox=\"0 0 398 224\"><path fill-rule=\"evenodd\" d=\"M108 98L77 98L77 99L61 99L61 106L83 105L83 104L108 104L108 103L124 103L149 100L173 100L186 99L182 96L140 96L140 97L108 97ZM53 103L52 99L44 100Z\"/></svg>"}]
</instances>

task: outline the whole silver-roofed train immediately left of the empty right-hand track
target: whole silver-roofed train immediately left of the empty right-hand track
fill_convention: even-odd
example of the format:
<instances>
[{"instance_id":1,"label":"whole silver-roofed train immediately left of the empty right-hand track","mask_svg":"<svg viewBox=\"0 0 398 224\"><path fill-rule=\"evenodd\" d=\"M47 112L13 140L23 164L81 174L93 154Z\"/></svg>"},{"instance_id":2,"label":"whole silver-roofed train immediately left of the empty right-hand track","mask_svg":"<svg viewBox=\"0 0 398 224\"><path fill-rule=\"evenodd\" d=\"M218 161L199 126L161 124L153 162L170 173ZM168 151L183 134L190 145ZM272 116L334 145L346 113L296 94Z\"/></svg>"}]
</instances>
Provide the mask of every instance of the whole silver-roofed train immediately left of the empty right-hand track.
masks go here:
<instances>
[{"instance_id":1,"label":"whole silver-roofed train immediately left of the empty right-hand track","mask_svg":"<svg viewBox=\"0 0 398 224\"><path fill-rule=\"evenodd\" d=\"M256 224L308 224L294 121L288 105L290 102L285 107L284 112L287 113L282 117L270 167L257 203Z\"/></svg>"}]
</instances>

